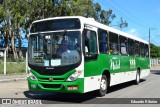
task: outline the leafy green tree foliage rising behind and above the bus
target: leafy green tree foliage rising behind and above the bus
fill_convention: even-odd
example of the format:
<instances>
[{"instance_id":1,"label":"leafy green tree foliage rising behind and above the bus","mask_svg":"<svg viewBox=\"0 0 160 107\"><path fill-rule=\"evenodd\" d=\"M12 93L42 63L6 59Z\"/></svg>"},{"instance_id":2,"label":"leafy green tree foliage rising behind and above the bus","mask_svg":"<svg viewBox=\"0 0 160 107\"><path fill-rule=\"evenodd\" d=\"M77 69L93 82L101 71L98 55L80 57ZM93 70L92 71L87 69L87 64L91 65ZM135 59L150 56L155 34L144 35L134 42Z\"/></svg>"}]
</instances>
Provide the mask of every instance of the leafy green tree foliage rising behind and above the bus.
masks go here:
<instances>
[{"instance_id":1,"label":"leafy green tree foliage rising behind and above the bus","mask_svg":"<svg viewBox=\"0 0 160 107\"><path fill-rule=\"evenodd\" d=\"M73 15L93 17L106 25L116 18L112 10L103 10L93 0L0 0L0 30L6 43L13 32L20 41L19 29L27 30L34 20ZM127 27L123 20L118 24L121 29Z\"/></svg>"}]
</instances>

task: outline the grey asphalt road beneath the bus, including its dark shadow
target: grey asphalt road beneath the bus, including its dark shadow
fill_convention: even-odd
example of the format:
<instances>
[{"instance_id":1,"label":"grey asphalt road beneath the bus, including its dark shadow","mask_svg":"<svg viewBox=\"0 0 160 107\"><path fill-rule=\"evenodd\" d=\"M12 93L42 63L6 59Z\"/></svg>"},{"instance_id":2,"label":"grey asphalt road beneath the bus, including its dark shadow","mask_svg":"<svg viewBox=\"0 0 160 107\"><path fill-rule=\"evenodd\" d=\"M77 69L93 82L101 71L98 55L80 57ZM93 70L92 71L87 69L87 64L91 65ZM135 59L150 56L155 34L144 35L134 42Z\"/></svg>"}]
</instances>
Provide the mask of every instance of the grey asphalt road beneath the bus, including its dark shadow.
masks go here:
<instances>
[{"instance_id":1,"label":"grey asphalt road beneath the bus, including its dark shadow","mask_svg":"<svg viewBox=\"0 0 160 107\"><path fill-rule=\"evenodd\" d=\"M54 94L46 92L30 92L28 91L27 81L12 81L0 83L0 98L29 98L42 100L43 103L49 104L105 104L107 103L123 103L122 100L143 100L143 98L160 98L160 70L152 70L151 74L142 79L139 85L134 82L127 82L113 86L109 92L102 98L97 97L96 92L82 94ZM111 99L110 99L111 98ZM113 98L113 99L112 99ZM120 99L118 99L120 98ZM120 102L118 102L121 100ZM126 101L126 102L127 102Z\"/></svg>"}]
</instances>

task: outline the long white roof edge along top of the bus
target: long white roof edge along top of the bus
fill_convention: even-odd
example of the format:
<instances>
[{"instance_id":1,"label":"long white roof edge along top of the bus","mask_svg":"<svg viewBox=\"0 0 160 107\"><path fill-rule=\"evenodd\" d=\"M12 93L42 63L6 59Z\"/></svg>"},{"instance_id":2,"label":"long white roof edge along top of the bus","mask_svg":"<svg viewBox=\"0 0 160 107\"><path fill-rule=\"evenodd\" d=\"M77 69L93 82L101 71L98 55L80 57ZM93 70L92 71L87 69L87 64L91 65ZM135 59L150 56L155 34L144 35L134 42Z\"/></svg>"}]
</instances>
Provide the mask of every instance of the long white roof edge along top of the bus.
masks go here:
<instances>
[{"instance_id":1,"label":"long white roof edge along top of the bus","mask_svg":"<svg viewBox=\"0 0 160 107\"><path fill-rule=\"evenodd\" d=\"M82 16L53 17L53 18L46 18L46 19L42 19L42 20L36 20L33 23L40 22L40 21L54 20L54 19L66 19L66 18L79 18L81 20L81 22L84 23L84 24L88 24L88 25L91 25L91 26L94 26L94 27L97 27L97 28L100 28L100 29L103 29L103 30L110 31L112 33L116 33L118 35L121 35L121 36L124 36L124 37L127 37L127 38L134 39L134 40L139 41L139 42L143 42L145 44L149 44L148 41L145 41L145 40L143 40L141 38L138 38L134 35L131 35L131 34L122 32L118 29L115 29L115 28L109 27L107 25L101 24L101 23L95 21L93 18L85 18L85 17L82 17Z\"/></svg>"}]
</instances>

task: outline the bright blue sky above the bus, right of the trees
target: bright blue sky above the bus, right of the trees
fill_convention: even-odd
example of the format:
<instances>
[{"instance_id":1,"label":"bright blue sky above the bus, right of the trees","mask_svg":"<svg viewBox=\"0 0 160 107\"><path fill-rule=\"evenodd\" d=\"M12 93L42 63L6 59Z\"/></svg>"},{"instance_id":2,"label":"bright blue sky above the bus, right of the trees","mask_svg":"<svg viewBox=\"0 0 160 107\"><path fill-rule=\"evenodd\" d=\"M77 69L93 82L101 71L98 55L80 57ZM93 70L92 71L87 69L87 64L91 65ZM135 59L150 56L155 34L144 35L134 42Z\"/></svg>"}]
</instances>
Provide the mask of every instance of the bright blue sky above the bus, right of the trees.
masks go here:
<instances>
[{"instance_id":1,"label":"bright blue sky above the bus, right of the trees","mask_svg":"<svg viewBox=\"0 0 160 107\"><path fill-rule=\"evenodd\" d=\"M94 0L101 5L103 10L111 9L116 15L111 26L116 25L122 17L128 22L128 27L122 31L149 40L160 46L160 0ZM119 29L120 30L120 29Z\"/></svg>"}]
</instances>

